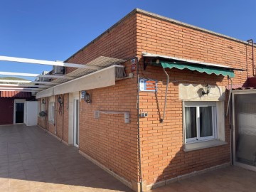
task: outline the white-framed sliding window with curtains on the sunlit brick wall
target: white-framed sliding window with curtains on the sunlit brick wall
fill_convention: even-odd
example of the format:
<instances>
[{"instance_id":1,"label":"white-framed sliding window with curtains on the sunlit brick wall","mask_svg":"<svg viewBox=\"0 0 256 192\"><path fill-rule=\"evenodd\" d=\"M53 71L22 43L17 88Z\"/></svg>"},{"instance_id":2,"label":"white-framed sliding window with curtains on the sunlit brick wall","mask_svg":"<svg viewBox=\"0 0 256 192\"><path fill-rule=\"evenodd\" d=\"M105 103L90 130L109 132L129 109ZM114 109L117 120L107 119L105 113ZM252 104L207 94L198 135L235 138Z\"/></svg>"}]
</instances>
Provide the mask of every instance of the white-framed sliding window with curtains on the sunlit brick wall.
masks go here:
<instances>
[{"instance_id":1,"label":"white-framed sliding window with curtains on the sunlit brick wall","mask_svg":"<svg viewBox=\"0 0 256 192\"><path fill-rule=\"evenodd\" d=\"M216 139L216 124L216 102L184 102L186 144Z\"/></svg>"}]
</instances>

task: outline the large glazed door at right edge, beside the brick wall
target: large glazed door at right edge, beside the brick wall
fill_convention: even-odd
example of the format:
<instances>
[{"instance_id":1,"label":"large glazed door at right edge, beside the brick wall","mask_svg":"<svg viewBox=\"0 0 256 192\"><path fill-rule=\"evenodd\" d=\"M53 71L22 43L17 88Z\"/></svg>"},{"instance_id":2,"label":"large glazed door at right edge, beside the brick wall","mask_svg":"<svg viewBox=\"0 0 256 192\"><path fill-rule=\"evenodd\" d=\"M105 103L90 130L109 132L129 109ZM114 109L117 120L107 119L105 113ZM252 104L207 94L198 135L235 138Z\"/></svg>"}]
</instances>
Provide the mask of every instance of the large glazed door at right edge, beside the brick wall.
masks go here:
<instances>
[{"instance_id":1,"label":"large glazed door at right edge, beside the brick wall","mask_svg":"<svg viewBox=\"0 0 256 192\"><path fill-rule=\"evenodd\" d=\"M233 92L233 159L256 171L256 93Z\"/></svg>"}]
</instances>

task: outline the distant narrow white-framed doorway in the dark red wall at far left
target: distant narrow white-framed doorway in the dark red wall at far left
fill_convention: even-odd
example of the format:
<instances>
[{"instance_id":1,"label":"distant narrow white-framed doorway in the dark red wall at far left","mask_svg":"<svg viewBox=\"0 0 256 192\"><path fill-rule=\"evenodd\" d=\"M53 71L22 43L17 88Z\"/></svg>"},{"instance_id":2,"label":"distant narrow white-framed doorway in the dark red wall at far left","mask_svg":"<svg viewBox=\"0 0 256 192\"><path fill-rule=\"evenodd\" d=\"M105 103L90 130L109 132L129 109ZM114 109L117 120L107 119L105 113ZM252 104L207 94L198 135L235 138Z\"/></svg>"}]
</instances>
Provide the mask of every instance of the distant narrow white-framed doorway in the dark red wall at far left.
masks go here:
<instances>
[{"instance_id":1,"label":"distant narrow white-framed doorway in the dark red wall at far left","mask_svg":"<svg viewBox=\"0 0 256 192\"><path fill-rule=\"evenodd\" d=\"M14 100L14 124L24 123L24 106L26 100Z\"/></svg>"}]
</instances>

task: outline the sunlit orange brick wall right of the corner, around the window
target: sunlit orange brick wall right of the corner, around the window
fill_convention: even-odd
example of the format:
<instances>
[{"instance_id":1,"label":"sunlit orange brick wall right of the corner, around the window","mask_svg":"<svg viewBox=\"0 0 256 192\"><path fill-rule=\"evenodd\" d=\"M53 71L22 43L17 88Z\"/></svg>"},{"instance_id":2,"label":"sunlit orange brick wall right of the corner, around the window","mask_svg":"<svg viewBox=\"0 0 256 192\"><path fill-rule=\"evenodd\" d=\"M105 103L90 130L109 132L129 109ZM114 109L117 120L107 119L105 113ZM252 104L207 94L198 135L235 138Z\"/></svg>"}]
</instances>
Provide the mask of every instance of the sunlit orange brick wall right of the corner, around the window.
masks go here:
<instances>
[{"instance_id":1,"label":"sunlit orange brick wall right of the corner, around the window","mask_svg":"<svg viewBox=\"0 0 256 192\"><path fill-rule=\"evenodd\" d=\"M137 14L137 55L142 52L175 56L207 63L243 68L248 65L252 75L251 48L210 33L179 26L169 21ZM143 60L141 59L141 65ZM166 76L163 69L148 67L141 77L159 80L158 92L140 92L139 108L149 112L149 117L140 119L142 139L142 173L147 184L163 181L178 175L209 168L230 161L230 132L226 119L224 146L196 151L183 151L182 101L178 99L178 84L209 83L228 85L226 77L206 75L189 70L167 70L170 75L166 119L160 123L164 110ZM247 72L235 71L234 84L243 84ZM180 81L178 81L180 80ZM164 83L163 83L164 81ZM175 81L175 82L172 82ZM225 106L227 102L225 102Z\"/></svg>"}]
</instances>

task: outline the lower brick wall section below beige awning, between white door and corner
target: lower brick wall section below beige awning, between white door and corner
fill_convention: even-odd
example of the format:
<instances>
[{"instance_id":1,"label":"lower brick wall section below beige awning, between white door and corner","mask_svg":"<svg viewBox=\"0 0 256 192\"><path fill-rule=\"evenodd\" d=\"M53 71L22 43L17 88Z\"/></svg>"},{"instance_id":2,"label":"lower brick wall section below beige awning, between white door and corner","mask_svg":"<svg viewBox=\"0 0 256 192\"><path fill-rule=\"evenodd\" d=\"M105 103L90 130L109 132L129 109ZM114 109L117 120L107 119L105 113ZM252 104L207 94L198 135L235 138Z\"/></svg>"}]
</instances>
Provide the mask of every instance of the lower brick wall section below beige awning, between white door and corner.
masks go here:
<instances>
[{"instance_id":1,"label":"lower brick wall section below beige awning, between white door and corner","mask_svg":"<svg viewBox=\"0 0 256 192\"><path fill-rule=\"evenodd\" d=\"M137 182L137 89L133 80L120 80L116 85L89 90L92 103L80 102L80 150L100 161L114 173ZM129 112L100 114L95 110Z\"/></svg>"}]
</instances>

